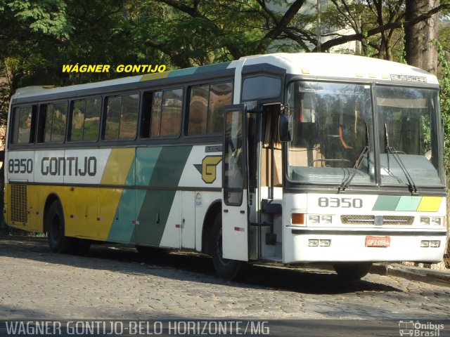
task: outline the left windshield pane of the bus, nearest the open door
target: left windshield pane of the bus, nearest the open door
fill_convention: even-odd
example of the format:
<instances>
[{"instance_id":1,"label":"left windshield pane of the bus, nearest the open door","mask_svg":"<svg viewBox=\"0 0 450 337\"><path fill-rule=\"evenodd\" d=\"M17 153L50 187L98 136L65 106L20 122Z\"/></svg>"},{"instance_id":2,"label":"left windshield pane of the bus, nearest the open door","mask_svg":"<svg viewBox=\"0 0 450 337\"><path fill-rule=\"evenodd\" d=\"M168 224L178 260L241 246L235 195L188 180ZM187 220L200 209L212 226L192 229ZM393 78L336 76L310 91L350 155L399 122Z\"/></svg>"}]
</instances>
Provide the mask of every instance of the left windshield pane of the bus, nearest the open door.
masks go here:
<instances>
[{"instance_id":1,"label":"left windshield pane of the bus, nearest the open door","mask_svg":"<svg viewBox=\"0 0 450 337\"><path fill-rule=\"evenodd\" d=\"M342 183L359 166L361 152L373 144L371 87L296 81L290 84L288 100L294 120L288 177L304 183ZM369 151L354 183L375 182L370 157Z\"/></svg>"}]
</instances>

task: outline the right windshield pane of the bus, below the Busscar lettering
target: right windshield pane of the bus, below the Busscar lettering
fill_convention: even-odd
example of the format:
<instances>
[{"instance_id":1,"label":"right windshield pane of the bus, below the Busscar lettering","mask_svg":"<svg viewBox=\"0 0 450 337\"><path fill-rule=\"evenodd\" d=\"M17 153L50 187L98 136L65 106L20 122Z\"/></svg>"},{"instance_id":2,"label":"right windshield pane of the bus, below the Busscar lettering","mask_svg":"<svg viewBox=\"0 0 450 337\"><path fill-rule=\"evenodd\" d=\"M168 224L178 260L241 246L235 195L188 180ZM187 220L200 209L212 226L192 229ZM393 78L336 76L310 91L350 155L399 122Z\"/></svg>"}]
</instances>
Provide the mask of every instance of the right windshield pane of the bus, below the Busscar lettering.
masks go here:
<instances>
[{"instance_id":1,"label":"right windshield pane of the bus, below the Busscar lettering","mask_svg":"<svg viewBox=\"0 0 450 337\"><path fill-rule=\"evenodd\" d=\"M401 164L416 185L442 185L437 95L437 90L423 88L375 88L383 185L407 182ZM392 157L395 154L400 163Z\"/></svg>"}]
</instances>

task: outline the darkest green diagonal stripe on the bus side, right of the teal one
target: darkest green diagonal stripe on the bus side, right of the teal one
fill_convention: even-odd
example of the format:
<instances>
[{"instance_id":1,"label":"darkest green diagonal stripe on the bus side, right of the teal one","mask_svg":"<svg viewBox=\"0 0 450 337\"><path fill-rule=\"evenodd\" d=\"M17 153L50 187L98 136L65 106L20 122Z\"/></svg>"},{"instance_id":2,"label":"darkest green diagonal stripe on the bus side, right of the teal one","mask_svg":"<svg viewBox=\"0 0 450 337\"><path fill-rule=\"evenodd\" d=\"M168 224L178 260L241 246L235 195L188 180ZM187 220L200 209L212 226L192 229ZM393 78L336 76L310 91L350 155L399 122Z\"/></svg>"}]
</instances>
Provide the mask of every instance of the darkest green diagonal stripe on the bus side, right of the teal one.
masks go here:
<instances>
[{"instance_id":1,"label":"darkest green diagonal stripe on the bus side, right of the teal one","mask_svg":"<svg viewBox=\"0 0 450 337\"><path fill-rule=\"evenodd\" d=\"M150 179L150 188L178 187L191 150L192 146L163 147ZM176 190L146 191L139 211L139 227L136 226L134 231L137 244L160 245L175 194Z\"/></svg>"}]
</instances>

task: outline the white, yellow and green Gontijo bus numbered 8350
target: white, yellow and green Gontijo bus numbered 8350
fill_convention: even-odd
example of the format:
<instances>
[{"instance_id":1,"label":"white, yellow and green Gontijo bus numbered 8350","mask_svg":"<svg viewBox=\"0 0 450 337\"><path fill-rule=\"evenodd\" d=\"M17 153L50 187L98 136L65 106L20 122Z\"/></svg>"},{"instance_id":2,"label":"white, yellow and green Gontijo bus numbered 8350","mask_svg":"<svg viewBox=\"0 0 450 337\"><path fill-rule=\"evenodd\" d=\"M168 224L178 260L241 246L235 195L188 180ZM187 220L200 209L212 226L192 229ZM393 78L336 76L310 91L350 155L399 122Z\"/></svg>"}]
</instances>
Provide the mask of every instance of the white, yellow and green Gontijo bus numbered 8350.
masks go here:
<instances>
[{"instance_id":1,"label":"white, yellow and green Gontijo bus numbered 8350","mask_svg":"<svg viewBox=\"0 0 450 337\"><path fill-rule=\"evenodd\" d=\"M11 98L8 225L52 251L91 242L248 263L442 260L437 78L396 62L274 53Z\"/></svg>"}]
</instances>

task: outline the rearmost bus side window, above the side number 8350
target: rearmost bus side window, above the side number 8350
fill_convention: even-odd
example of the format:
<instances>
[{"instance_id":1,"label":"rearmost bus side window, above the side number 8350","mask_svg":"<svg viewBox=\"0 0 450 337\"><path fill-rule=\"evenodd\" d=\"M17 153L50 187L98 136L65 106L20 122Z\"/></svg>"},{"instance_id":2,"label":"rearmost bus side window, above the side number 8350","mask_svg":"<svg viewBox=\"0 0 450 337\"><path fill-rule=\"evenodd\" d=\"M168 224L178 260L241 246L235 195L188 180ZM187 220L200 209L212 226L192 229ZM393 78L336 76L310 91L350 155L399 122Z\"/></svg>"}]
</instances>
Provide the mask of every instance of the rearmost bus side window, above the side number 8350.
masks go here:
<instances>
[{"instance_id":1,"label":"rearmost bus side window, above the side number 8350","mask_svg":"<svg viewBox=\"0 0 450 337\"><path fill-rule=\"evenodd\" d=\"M13 124L11 126L11 143L34 143L36 125L36 107L16 107L13 110Z\"/></svg>"}]
</instances>

